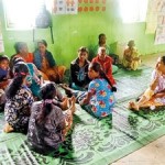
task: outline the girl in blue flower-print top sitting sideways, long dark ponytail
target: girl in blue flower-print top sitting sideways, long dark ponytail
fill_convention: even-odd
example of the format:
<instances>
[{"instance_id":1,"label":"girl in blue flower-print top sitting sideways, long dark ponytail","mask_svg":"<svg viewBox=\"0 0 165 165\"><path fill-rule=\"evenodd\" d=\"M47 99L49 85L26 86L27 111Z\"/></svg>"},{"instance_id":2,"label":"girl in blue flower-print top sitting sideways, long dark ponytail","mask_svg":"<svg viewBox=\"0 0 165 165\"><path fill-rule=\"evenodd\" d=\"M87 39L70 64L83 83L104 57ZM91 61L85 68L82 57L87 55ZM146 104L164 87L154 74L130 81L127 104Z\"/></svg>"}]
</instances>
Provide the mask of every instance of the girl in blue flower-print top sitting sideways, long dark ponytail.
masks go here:
<instances>
[{"instance_id":1,"label":"girl in blue flower-print top sitting sideways, long dark ponytail","mask_svg":"<svg viewBox=\"0 0 165 165\"><path fill-rule=\"evenodd\" d=\"M112 91L117 91L116 87L111 86L99 63L91 63L89 65L88 76L92 79L88 91L77 91L66 86L62 87L67 92L74 94L78 102L95 117L103 118L111 114L116 102Z\"/></svg>"}]
</instances>

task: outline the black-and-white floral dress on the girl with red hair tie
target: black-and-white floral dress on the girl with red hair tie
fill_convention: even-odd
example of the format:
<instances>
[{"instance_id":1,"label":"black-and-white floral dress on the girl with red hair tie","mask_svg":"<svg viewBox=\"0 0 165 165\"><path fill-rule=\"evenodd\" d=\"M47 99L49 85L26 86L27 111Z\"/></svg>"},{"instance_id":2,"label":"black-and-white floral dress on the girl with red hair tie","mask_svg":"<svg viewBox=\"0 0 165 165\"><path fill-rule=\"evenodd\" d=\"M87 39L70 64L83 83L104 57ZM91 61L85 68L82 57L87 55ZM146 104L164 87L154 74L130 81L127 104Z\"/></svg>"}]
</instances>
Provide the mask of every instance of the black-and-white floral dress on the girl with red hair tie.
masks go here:
<instances>
[{"instance_id":1,"label":"black-and-white floral dress on the girl with red hair tie","mask_svg":"<svg viewBox=\"0 0 165 165\"><path fill-rule=\"evenodd\" d=\"M4 107L6 121L18 132L28 130L30 107L33 96L26 86L22 86L12 99L7 99Z\"/></svg>"}]
</instances>

